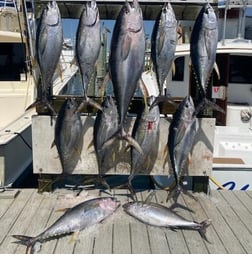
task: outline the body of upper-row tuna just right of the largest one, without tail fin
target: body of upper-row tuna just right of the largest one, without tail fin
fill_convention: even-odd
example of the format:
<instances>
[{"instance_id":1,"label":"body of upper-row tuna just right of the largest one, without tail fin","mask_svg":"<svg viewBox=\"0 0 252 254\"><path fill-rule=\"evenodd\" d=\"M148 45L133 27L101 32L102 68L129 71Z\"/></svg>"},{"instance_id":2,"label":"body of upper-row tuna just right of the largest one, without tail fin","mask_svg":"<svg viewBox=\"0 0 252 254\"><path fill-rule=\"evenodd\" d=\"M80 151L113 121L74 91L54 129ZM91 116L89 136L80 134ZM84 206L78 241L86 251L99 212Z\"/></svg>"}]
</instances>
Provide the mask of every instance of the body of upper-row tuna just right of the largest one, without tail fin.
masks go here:
<instances>
[{"instance_id":1,"label":"body of upper-row tuna just right of the largest one, without tail fin","mask_svg":"<svg viewBox=\"0 0 252 254\"><path fill-rule=\"evenodd\" d=\"M165 3L152 31L151 59L159 86L163 94L164 81L174 61L177 45L177 20L170 3Z\"/></svg>"}]
</instances>

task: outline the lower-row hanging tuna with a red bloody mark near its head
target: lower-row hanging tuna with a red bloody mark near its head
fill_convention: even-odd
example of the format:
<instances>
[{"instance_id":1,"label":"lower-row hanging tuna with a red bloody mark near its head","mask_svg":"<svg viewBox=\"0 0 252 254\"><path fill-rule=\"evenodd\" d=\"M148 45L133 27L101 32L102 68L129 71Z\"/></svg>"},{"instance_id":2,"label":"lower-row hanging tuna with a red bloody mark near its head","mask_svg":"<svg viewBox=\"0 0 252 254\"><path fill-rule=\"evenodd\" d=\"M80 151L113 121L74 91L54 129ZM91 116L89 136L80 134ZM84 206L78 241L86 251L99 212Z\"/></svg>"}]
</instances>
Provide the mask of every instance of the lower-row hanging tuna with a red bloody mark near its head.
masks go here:
<instances>
[{"instance_id":1,"label":"lower-row hanging tuna with a red bloody mark near its head","mask_svg":"<svg viewBox=\"0 0 252 254\"><path fill-rule=\"evenodd\" d=\"M155 97L149 98L151 105ZM149 174L153 169L158 153L159 145L160 112L158 105L151 110L145 106L144 111L136 119L133 128L133 137L140 145L143 153L139 153L134 147L131 149L131 172L128 179L129 189L133 196L132 180L138 173Z\"/></svg>"}]
</instances>

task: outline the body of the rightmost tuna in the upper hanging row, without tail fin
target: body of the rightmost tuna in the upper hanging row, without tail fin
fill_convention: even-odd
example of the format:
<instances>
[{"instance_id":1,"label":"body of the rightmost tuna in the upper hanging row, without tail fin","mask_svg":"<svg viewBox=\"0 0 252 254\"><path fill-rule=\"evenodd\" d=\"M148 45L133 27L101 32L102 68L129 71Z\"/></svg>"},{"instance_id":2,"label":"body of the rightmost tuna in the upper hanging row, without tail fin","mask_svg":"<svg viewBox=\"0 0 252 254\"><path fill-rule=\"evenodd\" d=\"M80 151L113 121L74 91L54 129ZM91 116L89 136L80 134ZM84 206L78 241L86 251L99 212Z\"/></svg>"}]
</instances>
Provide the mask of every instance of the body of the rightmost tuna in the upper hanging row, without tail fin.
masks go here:
<instances>
[{"instance_id":1,"label":"body of the rightmost tuna in the upper hanging row, without tail fin","mask_svg":"<svg viewBox=\"0 0 252 254\"><path fill-rule=\"evenodd\" d=\"M218 43L218 23L214 9L205 4L193 26L190 55L201 99L206 98L206 88L215 64Z\"/></svg>"}]
</instances>

